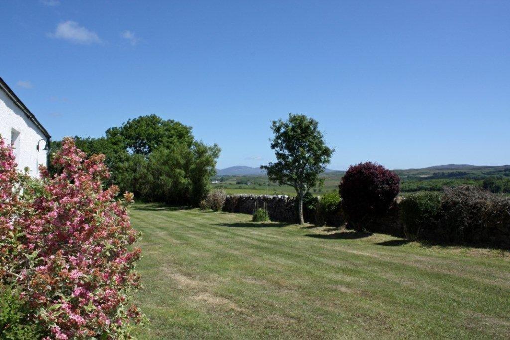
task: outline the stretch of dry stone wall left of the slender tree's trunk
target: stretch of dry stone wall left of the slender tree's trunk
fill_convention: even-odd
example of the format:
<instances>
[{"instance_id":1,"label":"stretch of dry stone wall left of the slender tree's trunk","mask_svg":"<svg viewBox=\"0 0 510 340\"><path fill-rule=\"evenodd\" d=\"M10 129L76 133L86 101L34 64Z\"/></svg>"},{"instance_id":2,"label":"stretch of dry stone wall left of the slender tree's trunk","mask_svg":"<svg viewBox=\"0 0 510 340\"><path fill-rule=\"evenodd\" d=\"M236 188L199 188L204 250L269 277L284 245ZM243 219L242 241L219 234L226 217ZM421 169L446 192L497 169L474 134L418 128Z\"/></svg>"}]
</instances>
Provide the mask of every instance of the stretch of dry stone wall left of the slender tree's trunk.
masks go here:
<instances>
[{"instance_id":1,"label":"stretch of dry stone wall left of the slender tree's trunk","mask_svg":"<svg viewBox=\"0 0 510 340\"><path fill-rule=\"evenodd\" d=\"M223 210L231 213L253 214L267 204L269 218L273 221L295 223L298 220L295 197L285 195L227 195Z\"/></svg>"}]
</instances>

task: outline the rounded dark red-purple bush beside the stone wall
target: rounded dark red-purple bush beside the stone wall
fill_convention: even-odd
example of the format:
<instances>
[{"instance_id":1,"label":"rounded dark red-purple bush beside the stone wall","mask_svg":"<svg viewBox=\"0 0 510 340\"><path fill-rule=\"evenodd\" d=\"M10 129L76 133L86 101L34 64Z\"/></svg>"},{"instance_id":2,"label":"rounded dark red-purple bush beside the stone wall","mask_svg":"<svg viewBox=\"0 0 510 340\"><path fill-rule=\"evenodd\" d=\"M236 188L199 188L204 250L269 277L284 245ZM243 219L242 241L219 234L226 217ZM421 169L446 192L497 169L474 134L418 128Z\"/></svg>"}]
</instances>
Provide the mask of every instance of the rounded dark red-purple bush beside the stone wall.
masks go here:
<instances>
[{"instance_id":1,"label":"rounded dark red-purple bush beside the stone wall","mask_svg":"<svg viewBox=\"0 0 510 340\"><path fill-rule=\"evenodd\" d=\"M367 229L384 216L399 192L400 178L384 166L366 162L351 165L340 181L340 197L347 223Z\"/></svg>"}]
</instances>

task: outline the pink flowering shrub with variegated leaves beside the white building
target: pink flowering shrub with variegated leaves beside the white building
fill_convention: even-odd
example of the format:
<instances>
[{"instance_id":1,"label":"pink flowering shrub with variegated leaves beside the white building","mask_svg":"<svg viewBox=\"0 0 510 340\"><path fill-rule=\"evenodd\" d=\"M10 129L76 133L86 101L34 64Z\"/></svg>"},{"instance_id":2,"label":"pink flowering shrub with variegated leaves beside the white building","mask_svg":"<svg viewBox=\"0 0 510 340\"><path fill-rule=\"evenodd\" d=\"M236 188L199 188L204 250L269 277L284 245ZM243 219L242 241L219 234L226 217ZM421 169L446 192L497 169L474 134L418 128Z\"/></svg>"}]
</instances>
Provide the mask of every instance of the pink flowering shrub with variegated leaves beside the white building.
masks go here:
<instances>
[{"instance_id":1,"label":"pink flowering shrub with variegated leaves beside the white building","mask_svg":"<svg viewBox=\"0 0 510 340\"><path fill-rule=\"evenodd\" d=\"M127 214L133 194L103 188L103 155L89 159L64 139L41 180L15 171L0 138L0 278L15 283L47 339L129 337L143 316L132 304L140 249ZM22 188L22 190L21 190Z\"/></svg>"}]
</instances>

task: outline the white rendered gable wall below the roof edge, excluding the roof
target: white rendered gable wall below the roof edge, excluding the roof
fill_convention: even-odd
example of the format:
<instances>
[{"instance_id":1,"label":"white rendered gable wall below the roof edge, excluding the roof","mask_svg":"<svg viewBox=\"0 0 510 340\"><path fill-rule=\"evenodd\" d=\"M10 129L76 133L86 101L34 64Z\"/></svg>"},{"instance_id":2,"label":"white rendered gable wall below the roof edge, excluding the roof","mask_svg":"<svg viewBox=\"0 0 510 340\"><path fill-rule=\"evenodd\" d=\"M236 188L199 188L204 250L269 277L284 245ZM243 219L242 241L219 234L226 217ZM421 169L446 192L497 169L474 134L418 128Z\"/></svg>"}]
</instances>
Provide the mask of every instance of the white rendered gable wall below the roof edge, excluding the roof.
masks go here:
<instances>
[{"instance_id":1,"label":"white rendered gable wall below the roof edge, excluding the roof","mask_svg":"<svg viewBox=\"0 0 510 340\"><path fill-rule=\"evenodd\" d=\"M46 137L37 126L25 115L14 101L0 89L0 135L11 144L12 129L20 133L19 148L15 150L18 169L30 168L32 176L38 175L38 165L46 165ZM40 151L37 151L37 143Z\"/></svg>"}]
</instances>

